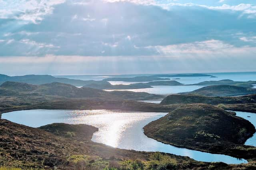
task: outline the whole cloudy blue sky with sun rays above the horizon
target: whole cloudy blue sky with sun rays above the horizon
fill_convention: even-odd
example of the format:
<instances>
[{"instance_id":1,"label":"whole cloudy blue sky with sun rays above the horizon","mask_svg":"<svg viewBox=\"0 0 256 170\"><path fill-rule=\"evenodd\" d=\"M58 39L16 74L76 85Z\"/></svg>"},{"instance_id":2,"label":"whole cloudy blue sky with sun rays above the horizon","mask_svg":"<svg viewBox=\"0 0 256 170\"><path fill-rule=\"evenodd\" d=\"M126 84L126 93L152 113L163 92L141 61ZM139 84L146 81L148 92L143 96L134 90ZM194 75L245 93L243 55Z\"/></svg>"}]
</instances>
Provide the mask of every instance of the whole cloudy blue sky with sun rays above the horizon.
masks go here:
<instances>
[{"instance_id":1,"label":"whole cloudy blue sky with sun rays above the horizon","mask_svg":"<svg viewBox=\"0 0 256 170\"><path fill-rule=\"evenodd\" d=\"M255 0L0 0L0 74L256 71Z\"/></svg>"}]
</instances>

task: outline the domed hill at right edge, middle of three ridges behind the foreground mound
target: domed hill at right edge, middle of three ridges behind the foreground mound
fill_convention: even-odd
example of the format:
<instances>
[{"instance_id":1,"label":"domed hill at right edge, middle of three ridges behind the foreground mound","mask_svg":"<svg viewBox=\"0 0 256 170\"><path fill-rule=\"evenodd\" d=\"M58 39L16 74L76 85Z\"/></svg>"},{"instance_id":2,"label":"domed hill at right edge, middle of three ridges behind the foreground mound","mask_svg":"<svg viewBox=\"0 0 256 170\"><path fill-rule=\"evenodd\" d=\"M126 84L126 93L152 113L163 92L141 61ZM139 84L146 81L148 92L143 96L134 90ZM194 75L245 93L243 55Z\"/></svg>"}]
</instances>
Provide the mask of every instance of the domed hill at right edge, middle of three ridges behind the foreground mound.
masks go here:
<instances>
[{"instance_id":1,"label":"domed hill at right edge, middle of three ridges behind the foreground mound","mask_svg":"<svg viewBox=\"0 0 256 170\"><path fill-rule=\"evenodd\" d=\"M256 94L256 89L231 85L215 85L202 87L192 92L184 92L180 94L196 94L202 96L241 96L246 94Z\"/></svg>"}]
</instances>

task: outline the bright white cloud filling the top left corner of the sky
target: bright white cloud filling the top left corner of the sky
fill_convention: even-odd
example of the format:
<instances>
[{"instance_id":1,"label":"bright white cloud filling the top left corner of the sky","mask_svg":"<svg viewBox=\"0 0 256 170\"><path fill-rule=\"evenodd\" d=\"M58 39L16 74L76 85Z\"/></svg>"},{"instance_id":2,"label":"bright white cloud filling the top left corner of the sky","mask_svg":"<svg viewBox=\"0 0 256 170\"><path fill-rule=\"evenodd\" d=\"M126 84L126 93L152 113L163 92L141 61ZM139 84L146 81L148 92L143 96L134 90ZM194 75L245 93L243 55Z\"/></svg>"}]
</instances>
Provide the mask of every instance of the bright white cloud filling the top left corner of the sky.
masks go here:
<instances>
[{"instance_id":1,"label":"bright white cloud filling the top left corner of the sky","mask_svg":"<svg viewBox=\"0 0 256 170\"><path fill-rule=\"evenodd\" d=\"M47 14L52 14L54 5L65 0L6 0L0 1L0 18L38 23Z\"/></svg>"}]
</instances>

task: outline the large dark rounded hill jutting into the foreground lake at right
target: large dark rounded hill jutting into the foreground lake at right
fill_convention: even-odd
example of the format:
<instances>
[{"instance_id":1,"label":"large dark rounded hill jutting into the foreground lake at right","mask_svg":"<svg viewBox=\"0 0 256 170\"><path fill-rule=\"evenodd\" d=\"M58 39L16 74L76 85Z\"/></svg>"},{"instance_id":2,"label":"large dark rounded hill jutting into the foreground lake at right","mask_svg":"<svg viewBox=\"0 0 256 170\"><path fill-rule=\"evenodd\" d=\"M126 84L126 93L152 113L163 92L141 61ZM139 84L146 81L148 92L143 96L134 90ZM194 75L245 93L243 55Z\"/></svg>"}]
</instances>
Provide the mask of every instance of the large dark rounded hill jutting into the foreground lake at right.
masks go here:
<instances>
[{"instance_id":1,"label":"large dark rounded hill jutting into the foreground lake at right","mask_svg":"<svg viewBox=\"0 0 256 170\"><path fill-rule=\"evenodd\" d=\"M237 158L255 156L256 148L242 145L255 133L249 121L206 104L183 105L150 122L144 133L153 139L178 147L223 153ZM237 148L241 149L238 151Z\"/></svg>"}]
</instances>

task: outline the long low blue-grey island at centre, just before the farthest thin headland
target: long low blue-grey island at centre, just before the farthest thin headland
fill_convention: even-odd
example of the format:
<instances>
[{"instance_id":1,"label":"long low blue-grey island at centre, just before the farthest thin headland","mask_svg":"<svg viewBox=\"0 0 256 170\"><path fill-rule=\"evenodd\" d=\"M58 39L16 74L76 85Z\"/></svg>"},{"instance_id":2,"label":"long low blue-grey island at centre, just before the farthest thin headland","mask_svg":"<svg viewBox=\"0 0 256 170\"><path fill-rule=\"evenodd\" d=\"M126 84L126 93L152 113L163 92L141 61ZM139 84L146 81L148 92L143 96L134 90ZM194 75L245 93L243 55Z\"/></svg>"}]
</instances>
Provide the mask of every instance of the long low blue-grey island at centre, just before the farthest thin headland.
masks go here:
<instances>
[{"instance_id":1,"label":"long low blue-grey island at centre, just before the farthest thin headland","mask_svg":"<svg viewBox=\"0 0 256 170\"><path fill-rule=\"evenodd\" d=\"M170 80L170 78L159 78L154 76L136 76L136 77L116 77L105 78L105 81L123 81L123 82L150 82L155 80Z\"/></svg>"}]
</instances>

